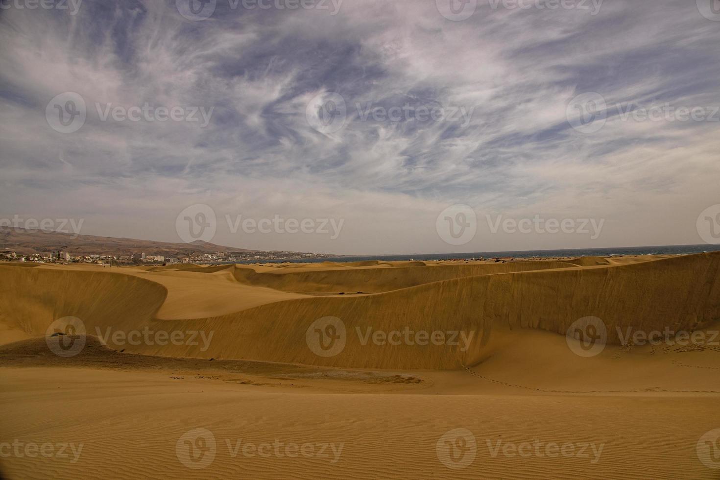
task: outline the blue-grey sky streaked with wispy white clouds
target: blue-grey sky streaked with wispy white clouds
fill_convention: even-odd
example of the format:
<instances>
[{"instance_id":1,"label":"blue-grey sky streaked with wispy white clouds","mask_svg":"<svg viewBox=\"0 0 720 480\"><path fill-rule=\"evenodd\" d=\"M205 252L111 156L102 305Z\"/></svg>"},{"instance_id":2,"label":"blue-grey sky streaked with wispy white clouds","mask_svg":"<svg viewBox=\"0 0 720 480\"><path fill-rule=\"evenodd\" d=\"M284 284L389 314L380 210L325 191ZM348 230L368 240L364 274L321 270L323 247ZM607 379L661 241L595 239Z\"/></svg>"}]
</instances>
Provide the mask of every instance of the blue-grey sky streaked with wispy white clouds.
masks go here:
<instances>
[{"instance_id":1,"label":"blue-grey sky streaked with wispy white clouds","mask_svg":"<svg viewBox=\"0 0 720 480\"><path fill-rule=\"evenodd\" d=\"M720 243L720 1L42 1L0 0L0 223L351 255Z\"/></svg>"}]
</instances>

